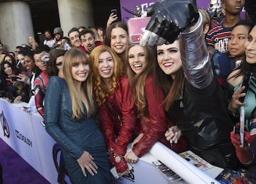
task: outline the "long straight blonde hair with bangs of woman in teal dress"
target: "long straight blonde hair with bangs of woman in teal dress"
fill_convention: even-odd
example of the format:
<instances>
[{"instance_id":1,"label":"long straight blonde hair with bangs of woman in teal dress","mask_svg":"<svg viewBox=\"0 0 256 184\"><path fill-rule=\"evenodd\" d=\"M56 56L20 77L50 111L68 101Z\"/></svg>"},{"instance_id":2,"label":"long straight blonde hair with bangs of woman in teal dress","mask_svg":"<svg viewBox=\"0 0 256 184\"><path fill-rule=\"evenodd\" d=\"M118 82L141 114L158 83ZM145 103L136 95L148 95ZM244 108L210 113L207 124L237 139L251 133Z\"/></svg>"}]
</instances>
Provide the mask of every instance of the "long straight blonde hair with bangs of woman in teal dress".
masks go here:
<instances>
[{"instance_id":1,"label":"long straight blonde hair with bangs of woman in teal dress","mask_svg":"<svg viewBox=\"0 0 256 184\"><path fill-rule=\"evenodd\" d=\"M80 120L82 114L85 110L82 105L82 98L80 91L75 87L75 79L72 75L72 67L80 62L89 63L89 58L87 55L78 48L72 48L65 53L63 59L63 76L68 84L68 89L70 91L70 97L72 102L72 117L74 119ZM91 72L90 72L91 73ZM85 97L87 98L88 106L87 117L90 117L95 109L95 103L92 95L92 76L89 74L86 81L82 82L82 88L85 91Z\"/></svg>"}]
</instances>

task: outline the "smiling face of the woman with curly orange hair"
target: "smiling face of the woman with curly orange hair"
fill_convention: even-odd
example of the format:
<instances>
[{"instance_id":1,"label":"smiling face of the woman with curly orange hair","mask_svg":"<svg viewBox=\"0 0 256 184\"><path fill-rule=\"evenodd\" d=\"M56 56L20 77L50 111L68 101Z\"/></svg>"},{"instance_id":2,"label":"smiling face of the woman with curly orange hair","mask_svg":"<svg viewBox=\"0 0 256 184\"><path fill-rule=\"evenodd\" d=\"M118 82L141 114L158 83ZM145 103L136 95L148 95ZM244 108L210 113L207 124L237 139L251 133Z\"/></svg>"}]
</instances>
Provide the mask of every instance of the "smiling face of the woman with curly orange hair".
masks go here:
<instances>
[{"instance_id":1,"label":"smiling face of the woman with curly orange hair","mask_svg":"<svg viewBox=\"0 0 256 184\"><path fill-rule=\"evenodd\" d=\"M110 52L102 52L99 57L98 72L102 79L110 79L114 72L114 61Z\"/></svg>"}]
</instances>

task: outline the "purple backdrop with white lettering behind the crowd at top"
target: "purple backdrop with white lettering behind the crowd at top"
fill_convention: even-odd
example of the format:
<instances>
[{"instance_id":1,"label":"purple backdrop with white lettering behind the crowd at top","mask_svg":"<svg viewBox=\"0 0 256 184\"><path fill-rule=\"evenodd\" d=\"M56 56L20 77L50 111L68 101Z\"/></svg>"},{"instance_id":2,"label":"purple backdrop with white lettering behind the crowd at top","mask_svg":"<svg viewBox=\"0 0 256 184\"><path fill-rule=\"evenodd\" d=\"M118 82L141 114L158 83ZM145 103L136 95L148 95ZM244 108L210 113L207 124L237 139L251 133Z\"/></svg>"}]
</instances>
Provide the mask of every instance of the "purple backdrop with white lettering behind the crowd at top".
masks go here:
<instances>
[{"instance_id":1,"label":"purple backdrop with white lettering behind the crowd at top","mask_svg":"<svg viewBox=\"0 0 256 184\"><path fill-rule=\"evenodd\" d=\"M127 13L124 11L122 7L128 8L131 11L139 11L139 9L143 12L146 11L146 8L150 5L156 2L156 0L120 0L120 9L121 9L121 16L122 16L122 21L127 22L128 18L133 17L132 14ZM207 0L196 0L197 6L201 8L207 9L209 1ZM137 9L137 6L139 7ZM242 12L241 17L244 18L245 12Z\"/></svg>"}]
</instances>

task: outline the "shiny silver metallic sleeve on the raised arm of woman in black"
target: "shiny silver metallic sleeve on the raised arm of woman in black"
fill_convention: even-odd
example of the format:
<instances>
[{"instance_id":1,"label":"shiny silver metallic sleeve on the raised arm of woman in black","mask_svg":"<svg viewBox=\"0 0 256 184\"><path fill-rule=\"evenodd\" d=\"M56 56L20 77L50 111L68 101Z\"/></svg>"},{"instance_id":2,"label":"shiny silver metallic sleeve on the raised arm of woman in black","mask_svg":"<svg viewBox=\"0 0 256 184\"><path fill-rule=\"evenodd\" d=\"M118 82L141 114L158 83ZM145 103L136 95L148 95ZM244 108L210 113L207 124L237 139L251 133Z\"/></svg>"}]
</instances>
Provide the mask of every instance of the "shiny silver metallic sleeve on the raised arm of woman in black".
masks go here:
<instances>
[{"instance_id":1,"label":"shiny silver metallic sleeve on the raised arm of woman in black","mask_svg":"<svg viewBox=\"0 0 256 184\"><path fill-rule=\"evenodd\" d=\"M202 25L200 15L196 25L184 30L179 39L183 72L188 82L196 88L206 88L213 81Z\"/></svg>"}]
</instances>

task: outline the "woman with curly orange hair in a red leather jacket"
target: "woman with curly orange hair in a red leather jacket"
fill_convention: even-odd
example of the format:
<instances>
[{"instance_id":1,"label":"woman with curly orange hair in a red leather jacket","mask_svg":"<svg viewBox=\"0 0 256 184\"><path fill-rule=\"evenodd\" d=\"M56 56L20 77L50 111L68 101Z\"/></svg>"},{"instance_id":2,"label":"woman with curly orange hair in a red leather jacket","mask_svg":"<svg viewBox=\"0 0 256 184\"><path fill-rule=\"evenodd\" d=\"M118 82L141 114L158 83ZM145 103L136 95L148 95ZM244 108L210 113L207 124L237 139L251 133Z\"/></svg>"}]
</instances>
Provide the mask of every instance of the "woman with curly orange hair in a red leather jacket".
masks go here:
<instances>
[{"instance_id":1,"label":"woman with curly orange hair in a red leather jacket","mask_svg":"<svg viewBox=\"0 0 256 184\"><path fill-rule=\"evenodd\" d=\"M90 64L100 125L110 162L116 167L119 176L122 176L129 173L124 154L137 127L137 110L132 90L129 80L123 75L123 62L107 45L92 50Z\"/></svg>"}]
</instances>

